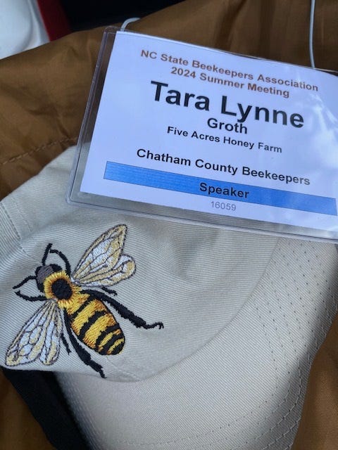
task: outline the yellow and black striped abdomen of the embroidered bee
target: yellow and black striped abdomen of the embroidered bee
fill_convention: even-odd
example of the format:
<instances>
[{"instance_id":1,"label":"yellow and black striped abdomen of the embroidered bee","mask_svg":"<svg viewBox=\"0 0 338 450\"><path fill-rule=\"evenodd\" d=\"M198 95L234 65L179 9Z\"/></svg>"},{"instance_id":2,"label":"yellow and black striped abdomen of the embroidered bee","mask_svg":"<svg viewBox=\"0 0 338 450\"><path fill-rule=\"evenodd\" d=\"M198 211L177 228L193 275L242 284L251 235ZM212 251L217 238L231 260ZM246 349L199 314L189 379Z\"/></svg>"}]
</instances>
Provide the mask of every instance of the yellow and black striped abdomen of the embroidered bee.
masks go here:
<instances>
[{"instance_id":1,"label":"yellow and black striped abdomen of the embroidered bee","mask_svg":"<svg viewBox=\"0 0 338 450\"><path fill-rule=\"evenodd\" d=\"M115 317L101 302L88 298L68 315L77 338L99 354L118 354L125 337Z\"/></svg>"}]
</instances>

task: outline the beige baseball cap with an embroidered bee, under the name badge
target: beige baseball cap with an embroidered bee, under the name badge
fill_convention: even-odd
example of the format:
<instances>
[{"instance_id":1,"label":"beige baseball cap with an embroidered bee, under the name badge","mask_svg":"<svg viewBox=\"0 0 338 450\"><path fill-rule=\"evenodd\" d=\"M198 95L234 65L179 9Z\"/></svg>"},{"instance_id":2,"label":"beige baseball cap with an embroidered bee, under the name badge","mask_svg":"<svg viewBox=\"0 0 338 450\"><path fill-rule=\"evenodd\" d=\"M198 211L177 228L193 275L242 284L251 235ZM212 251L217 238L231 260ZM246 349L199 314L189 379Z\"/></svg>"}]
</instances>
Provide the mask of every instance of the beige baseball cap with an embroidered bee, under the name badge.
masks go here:
<instances>
[{"instance_id":1,"label":"beige baseball cap with an embroidered bee, under the name badge","mask_svg":"<svg viewBox=\"0 0 338 450\"><path fill-rule=\"evenodd\" d=\"M0 358L56 371L93 449L289 449L334 245L65 202L74 148L0 203Z\"/></svg>"}]
</instances>

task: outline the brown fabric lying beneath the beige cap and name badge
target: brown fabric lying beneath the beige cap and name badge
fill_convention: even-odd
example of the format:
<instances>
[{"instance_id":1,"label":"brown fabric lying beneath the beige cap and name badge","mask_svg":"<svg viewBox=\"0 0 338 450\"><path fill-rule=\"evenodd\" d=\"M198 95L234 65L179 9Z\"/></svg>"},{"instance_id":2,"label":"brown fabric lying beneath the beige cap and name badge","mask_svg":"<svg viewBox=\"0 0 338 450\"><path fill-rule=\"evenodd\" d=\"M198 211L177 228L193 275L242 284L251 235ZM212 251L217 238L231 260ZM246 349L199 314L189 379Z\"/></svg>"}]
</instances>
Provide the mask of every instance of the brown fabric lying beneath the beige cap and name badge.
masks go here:
<instances>
[{"instance_id":1,"label":"brown fabric lying beneath the beige cap and name badge","mask_svg":"<svg viewBox=\"0 0 338 450\"><path fill-rule=\"evenodd\" d=\"M310 3L186 0L128 28L309 65ZM338 70L337 29L337 1L317 0L314 55L318 68ZM102 32L72 34L0 61L0 198L77 141ZM313 364L293 450L338 448L337 343L336 319ZM2 377L0 389L1 449L51 449L27 407Z\"/></svg>"}]
</instances>

